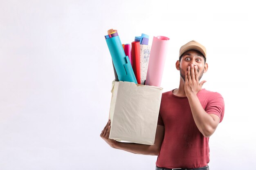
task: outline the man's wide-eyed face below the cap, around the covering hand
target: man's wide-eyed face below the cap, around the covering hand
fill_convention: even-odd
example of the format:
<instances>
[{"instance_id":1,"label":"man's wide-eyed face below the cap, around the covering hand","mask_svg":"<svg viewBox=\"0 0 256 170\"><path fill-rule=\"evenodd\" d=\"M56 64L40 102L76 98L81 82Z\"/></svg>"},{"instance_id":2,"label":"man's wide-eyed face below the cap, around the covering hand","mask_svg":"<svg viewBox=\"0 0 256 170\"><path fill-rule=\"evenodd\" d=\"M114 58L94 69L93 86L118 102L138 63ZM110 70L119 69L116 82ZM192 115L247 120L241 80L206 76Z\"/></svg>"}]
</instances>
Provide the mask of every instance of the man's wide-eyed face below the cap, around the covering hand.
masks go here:
<instances>
[{"instance_id":1,"label":"man's wide-eyed face below the cap, around the covering hand","mask_svg":"<svg viewBox=\"0 0 256 170\"><path fill-rule=\"evenodd\" d=\"M191 66L191 64L195 66L195 71L198 71L198 80L202 78L203 74L207 71L208 68L208 65L204 64L204 57L200 52L196 50L186 51L182 55L181 61L177 61L176 63L176 68L177 70L180 70L180 76L184 81L188 67Z\"/></svg>"}]
</instances>

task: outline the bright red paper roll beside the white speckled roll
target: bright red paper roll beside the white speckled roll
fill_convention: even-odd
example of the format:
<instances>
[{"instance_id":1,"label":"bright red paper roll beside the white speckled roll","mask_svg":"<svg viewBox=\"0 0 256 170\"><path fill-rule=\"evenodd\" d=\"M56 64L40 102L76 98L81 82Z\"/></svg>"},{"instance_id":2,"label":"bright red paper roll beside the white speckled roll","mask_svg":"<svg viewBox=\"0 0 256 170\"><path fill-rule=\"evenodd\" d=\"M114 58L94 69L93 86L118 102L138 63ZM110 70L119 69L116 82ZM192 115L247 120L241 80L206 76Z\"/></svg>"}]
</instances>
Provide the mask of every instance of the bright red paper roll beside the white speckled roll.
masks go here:
<instances>
[{"instance_id":1,"label":"bright red paper roll beside the white speckled roll","mask_svg":"<svg viewBox=\"0 0 256 170\"><path fill-rule=\"evenodd\" d=\"M132 42L132 69L137 79L138 84L140 84L140 54L139 54L139 42Z\"/></svg>"}]
</instances>

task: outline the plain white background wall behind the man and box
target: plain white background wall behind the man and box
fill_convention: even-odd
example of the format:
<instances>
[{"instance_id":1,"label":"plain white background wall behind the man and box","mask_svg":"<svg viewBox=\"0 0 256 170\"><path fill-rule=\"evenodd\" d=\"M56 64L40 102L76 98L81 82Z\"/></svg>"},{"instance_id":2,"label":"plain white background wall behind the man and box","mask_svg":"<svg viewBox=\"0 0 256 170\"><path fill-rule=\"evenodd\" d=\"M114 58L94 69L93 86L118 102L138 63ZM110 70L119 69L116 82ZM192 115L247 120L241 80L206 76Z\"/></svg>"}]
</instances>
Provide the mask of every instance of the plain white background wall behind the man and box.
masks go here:
<instances>
[{"instance_id":1,"label":"plain white background wall behind the man and box","mask_svg":"<svg viewBox=\"0 0 256 170\"><path fill-rule=\"evenodd\" d=\"M115 78L112 28L124 44L170 38L164 92L178 86L180 46L206 46L203 87L225 99L210 169L255 169L255 15L246 0L0 0L0 170L154 170L156 156L99 137Z\"/></svg>"}]
</instances>

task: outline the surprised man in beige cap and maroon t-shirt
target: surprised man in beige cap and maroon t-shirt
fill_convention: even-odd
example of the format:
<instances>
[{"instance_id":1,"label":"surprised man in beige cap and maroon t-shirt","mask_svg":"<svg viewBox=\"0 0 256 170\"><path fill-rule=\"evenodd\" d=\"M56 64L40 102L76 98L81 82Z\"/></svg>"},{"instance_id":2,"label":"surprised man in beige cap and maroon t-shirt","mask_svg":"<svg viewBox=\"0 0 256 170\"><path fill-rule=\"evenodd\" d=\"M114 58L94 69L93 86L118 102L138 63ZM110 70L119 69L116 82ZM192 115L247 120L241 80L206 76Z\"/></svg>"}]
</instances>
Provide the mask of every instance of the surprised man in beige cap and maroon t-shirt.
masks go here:
<instances>
[{"instance_id":1,"label":"surprised man in beige cap and maroon t-shirt","mask_svg":"<svg viewBox=\"0 0 256 170\"><path fill-rule=\"evenodd\" d=\"M112 147L144 155L158 155L156 170L209 170L209 137L224 116L219 93L202 88L207 72L206 49L192 40L180 48L176 68L180 85L162 94L153 146L109 139L110 121L101 137Z\"/></svg>"}]
</instances>

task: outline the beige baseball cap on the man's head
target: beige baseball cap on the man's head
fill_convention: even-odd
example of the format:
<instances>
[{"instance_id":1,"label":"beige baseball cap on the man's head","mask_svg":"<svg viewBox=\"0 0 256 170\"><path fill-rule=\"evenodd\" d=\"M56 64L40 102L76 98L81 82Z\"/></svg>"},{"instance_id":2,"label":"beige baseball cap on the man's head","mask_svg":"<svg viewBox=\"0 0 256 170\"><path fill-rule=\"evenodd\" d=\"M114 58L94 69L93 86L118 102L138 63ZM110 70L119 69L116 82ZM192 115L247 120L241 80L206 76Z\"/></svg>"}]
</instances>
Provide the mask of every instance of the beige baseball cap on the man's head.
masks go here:
<instances>
[{"instance_id":1,"label":"beige baseball cap on the man's head","mask_svg":"<svg viewBox=\"0 0 256 170\"><path fill-rule=\"evenodd\" d=\"M185 53L186 51L189 51L189 50L197 50L197 51L200 51L204 57L206 58L206 49L205 47L200 44L199 42L196 42L195 40L192 40L188 43L186 43L185 45L181 46L180 47L180 56Z\"/></svg>"}]
</instances>

